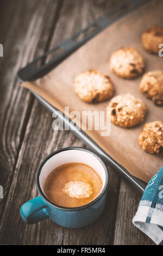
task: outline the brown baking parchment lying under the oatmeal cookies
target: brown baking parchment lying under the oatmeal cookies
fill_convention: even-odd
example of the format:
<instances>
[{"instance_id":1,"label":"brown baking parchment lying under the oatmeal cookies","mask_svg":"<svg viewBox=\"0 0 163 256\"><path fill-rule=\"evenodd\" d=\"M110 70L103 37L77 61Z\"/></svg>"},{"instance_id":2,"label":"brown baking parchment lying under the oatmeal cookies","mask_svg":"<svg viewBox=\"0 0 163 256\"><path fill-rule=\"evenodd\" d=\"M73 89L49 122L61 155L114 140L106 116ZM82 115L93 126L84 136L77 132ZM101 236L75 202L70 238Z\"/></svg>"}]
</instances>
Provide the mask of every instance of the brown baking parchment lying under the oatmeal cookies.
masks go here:
<instances>
[{"instance_id":1,"label":"brown baking parchment lying under the oatmeal cookies","mask_svg":"<svg viewBox=\"0 0 163 256\"><path fill-rule=\"evenodd\" d=\"M111 77L116 89L115 95L130 93L145 101L148 111L140 125L123 129L112 124L111 134L108 137L102 137L101 130L85 131L86 135L92 139L91 143L97 143L103 152L110 156L113 166L127 170L131 175L145 182L148 182L163 165L163 159L161 156L145 153L139 146L138 137L143 124L162 119L162 107L155 106L151 100L141 94L139 89L141 76L133 80L117 77L110 70L109 59L112 52L118 48L133 46L144 56L146 71L162 69L163 58L147 53L142 48L140 40L141 33L147 27L163 25L162 9L162 1L152 1L141 6L80 47L47 75L36 81L21 84L45 99L45 105L49 102L63 113L65 106L68 106L70 112L78 111L82 117L82 111L106 111L108 106L109 100L98 104L85 103L74 92L74 77L85 70L95 69ZM79 124L78 121L77 124ZM93 148L91 143L87 144ZM122 173L127 172L122 171ZM131 175L129 180L132 179ZM139 182L137 186L139 187ZM143 191L144 188L145 185L142 182L140 190Z\"/></svg>"}]
</instances>

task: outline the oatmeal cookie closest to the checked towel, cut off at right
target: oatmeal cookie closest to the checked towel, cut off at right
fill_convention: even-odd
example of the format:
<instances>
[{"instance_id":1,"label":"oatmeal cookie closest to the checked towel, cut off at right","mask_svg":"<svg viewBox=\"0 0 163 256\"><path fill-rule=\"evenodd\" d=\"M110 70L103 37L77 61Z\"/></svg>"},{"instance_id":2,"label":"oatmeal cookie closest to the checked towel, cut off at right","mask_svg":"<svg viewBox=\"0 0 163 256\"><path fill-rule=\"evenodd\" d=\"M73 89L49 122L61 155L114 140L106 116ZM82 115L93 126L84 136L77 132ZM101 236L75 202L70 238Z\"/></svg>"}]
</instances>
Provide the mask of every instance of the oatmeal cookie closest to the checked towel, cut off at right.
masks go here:
<instances>
[{"instance_id":1,"label":"oatmeal cookie closest to the checked towel, cut off at right","mask_svg":"<svg viewBox=\"0 0 163 256\"><path fill-rule=\"evenodd\" d=\"M139 135L139 145L148 153L163 156L163 122L145 124Z\"/></svg>"}]
</instances>

